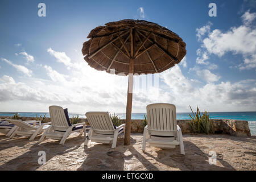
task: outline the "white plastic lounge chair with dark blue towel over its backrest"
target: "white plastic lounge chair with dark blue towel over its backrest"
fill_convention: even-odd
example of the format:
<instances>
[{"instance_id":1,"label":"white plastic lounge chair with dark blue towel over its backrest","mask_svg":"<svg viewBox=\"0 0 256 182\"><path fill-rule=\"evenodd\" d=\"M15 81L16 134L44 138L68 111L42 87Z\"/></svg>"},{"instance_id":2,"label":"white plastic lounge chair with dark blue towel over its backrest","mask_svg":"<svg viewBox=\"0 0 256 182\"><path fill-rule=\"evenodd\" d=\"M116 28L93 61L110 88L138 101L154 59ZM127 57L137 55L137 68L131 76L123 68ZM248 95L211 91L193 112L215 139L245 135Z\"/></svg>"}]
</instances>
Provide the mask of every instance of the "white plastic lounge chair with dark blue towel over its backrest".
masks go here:
<instances>
[{"instance_id":1,"label":"white plastic lounge chair with dark blue towel over its backrest","mask_svg":"<svg viewBox=\"0 0 256 182\"><path fill-rule=\"evenodd\" d=\"M52 125L46 131L44 131L39 142L42 142L44 138L51 138L55 140L61 139L60 144L64 144L65 140L71 133L80 132L79 136L81 136L82 133L84 133L84 136L86 135L85 123L77 123L76 125L72 125L69 122L68 113L66 116L63 107L49 106L49 114Z\"/></svg>"}]
</instances>

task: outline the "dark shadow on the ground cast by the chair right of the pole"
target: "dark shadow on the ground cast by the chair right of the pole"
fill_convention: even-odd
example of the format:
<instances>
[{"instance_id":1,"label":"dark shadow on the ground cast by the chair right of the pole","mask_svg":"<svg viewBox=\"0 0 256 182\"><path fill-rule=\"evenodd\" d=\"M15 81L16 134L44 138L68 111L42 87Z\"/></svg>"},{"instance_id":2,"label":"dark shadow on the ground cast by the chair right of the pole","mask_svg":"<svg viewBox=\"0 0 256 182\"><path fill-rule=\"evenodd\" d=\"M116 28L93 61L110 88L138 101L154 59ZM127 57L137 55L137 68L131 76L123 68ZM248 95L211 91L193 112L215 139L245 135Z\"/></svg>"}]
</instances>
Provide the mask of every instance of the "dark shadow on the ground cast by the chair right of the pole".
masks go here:
<instances>
[{"instance_id":1,"label":"dark shadow on the ground cast by the chair right of the pole","mask_svg":"<svg viewBox=\"0 0 256 182\"><path fill-rule=\"evenodd\" d=\"M151 146L148 146L151 147ZM157 157L146 151L144 154L155 159L159 163L172 168L179 168L182 171L233 171L235 170L228 162L222 159L221 154L217 154L217 161L223 167L209 164L209 156L200 150L192 142L184 141L185 155L180 154L179 146L174 149L156 150ZM187 150L186 150L187 148ZM189 150L188 150L189 148Z\"/></svg>"}]
</instances>

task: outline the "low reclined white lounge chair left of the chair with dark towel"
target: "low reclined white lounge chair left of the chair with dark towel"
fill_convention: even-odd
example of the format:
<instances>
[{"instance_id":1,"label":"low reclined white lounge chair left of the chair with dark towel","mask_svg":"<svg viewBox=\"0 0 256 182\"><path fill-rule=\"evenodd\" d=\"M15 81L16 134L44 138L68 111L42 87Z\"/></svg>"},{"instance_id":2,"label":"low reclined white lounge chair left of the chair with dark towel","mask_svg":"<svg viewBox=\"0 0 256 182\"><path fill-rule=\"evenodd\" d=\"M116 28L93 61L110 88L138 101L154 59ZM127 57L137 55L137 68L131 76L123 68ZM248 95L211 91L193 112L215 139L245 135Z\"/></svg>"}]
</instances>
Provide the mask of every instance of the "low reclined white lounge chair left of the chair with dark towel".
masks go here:
<instances>
[{"instance_id":1,"label":"low reclined white lounge chair left of the chair with dark towel","mask_svg":"<svg viewBox=\"0 0 256 182\"><path fill-rule=\"evenodd\" d=\"M5 119L9 123L13 123L15 126L13 128L13 133L10 135L10 138L14 138L15 135L30 137L29 140L34 140L35 137L42 133L42 131L46 130L51 124L51 122L43 123L39 121L39 124L36 125L38 121L22 121L20 119ZM30 122L34 123L31 125Z\"/></svg>"}]
</instances>

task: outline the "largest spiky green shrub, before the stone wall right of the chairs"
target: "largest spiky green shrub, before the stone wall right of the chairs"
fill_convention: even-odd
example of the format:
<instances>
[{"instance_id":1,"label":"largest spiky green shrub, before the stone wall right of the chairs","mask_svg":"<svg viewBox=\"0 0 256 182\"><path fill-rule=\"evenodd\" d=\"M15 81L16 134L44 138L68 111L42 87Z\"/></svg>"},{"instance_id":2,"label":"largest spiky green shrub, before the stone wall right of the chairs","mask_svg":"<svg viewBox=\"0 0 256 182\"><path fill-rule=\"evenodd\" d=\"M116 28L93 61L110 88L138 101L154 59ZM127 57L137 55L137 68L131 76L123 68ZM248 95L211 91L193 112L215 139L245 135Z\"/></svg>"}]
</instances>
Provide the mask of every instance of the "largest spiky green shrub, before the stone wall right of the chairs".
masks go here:
<instances>
[{"instance_id":1,"label":"largest spiky green shrub, before the stone wall right of the chairs","mask_svg":"<svg viewBox=\"0 0 256 182\"><path fill-rule=\"evenodd\" d=\"M193 113L191 106L189 107L193 114L193 117L191 114L188 114L189 117L192 118L192 121L189 123L191 133L214 133L214 125L209 119L209 112L207 113L207 111L204 111L203 115L201 115L199 107L196 107L195 113Z\"/></svg>"}]
</instances>

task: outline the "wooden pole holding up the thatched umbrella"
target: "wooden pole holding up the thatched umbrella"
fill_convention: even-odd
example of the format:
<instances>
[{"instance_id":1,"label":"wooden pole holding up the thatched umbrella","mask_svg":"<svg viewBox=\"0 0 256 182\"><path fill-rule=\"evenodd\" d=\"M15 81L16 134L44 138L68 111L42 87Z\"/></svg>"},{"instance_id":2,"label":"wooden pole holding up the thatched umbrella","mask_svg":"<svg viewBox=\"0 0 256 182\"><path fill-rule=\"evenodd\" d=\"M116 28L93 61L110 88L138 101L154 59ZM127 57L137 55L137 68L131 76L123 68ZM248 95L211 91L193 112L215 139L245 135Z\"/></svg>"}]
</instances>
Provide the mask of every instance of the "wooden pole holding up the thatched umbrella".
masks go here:
<instances>
[{"instance_id":1,"label":"wooden pole holding up the thatched umbrella","mask_svg":"<svg viewBox=\"0 0 256 182\"><path fill-rule=\"evenodd\" d=\"M130 136L131 136L131 107L133 103L133 73L134 73L134 43L135 43L134 33L135 33L135 30L131 28L131 31L130 31L131 58L129 63L129 77L128 77L128 89L127 89L125 145L130 144Z\"/></svg>"}]
</instances>

